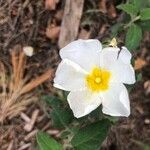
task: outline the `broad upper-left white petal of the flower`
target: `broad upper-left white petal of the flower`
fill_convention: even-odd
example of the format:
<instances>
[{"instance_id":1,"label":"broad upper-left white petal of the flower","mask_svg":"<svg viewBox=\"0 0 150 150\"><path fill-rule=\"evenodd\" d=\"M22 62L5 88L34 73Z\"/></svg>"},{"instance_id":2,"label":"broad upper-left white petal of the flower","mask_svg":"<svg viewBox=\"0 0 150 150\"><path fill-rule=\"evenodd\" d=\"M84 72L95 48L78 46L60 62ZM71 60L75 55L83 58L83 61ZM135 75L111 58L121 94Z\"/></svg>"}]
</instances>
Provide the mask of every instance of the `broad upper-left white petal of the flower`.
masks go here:
<instances>
[{"instance_id":1,"label":"broad upper-left white petal of the flower","mask_svg":"<svg viewBox=\"0 0 150 150\"><path fill-rule=\"evenodd\" d=\"M69 59L87 71L99 65L102 45L98 40L76 40L60 50L62 59Z\"/></svg>"}]
</instances>

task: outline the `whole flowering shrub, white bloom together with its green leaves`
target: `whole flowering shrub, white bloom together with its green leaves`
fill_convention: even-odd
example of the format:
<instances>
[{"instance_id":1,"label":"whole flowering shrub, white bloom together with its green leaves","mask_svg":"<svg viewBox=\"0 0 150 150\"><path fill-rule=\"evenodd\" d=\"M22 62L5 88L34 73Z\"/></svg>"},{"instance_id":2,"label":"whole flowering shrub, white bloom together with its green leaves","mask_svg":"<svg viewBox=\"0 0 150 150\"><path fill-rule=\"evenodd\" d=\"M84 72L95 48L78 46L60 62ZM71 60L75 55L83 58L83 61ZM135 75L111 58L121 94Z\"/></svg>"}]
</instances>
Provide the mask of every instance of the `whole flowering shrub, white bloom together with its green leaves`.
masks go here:
<instances>
[{"instance_id":1,"label":"whole flowering shrub, white bloom together with its green leaves","mask_svg":"<svg viewBox=\"0 0 150 150\"><path fill-rule=\"evenodd\" d=\"M139 48L143 31L150 29L149 6L149 0L129 0L117 7L124 17L111 27L110 38L119 39L124 33L126 47L115 39L107 46L90 39L73 41L60 50L54 87L63 91L44 100L52 108L53 125L61 129L61 141L39 132L42 150L97 150L118 116L130 115L127 85L135 83L135 76L140 78L132 67L131 52Z\"/></svg>"}]
</instances>

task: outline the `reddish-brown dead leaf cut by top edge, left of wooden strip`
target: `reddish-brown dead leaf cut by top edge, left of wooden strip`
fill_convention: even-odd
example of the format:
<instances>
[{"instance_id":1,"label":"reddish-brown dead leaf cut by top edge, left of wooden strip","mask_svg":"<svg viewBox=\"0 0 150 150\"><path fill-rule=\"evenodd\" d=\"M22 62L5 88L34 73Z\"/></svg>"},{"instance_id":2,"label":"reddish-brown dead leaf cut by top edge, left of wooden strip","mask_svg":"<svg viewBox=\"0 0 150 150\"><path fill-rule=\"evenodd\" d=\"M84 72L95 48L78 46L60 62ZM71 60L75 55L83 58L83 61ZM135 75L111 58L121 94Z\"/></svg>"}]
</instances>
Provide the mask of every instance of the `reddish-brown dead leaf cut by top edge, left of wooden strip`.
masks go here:
<instances>
[{"instance_id":1,"label":"reddish-brown dead leaf cut by top edge, left of wooden strip","mask_svg":"<svg viewBox=\"0 0 150 150\"><path fill-rule=\"evenodd\" d=\"M55 10L58 2L59 0L45 0L45 8L48 10Z\"/></svg>"}]
</instances>

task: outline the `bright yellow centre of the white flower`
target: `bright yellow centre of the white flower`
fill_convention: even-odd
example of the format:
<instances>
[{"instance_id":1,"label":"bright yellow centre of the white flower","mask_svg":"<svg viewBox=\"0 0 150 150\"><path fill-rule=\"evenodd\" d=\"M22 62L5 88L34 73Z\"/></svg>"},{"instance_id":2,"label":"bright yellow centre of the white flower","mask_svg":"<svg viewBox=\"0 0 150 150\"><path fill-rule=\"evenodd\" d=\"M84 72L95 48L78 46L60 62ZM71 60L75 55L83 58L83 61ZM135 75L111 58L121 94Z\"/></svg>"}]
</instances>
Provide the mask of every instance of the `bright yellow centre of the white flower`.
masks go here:
<instances>
[{"instance_id":1,"label":"bright yellow centre of the white flower","mask_svg":"<svg viewBox=\"0 0 150 150\"><path fill-rule=\"evenodd\" d=\"M91 73L86 76L88 88L93 92L105 91L109 88L111 73L99 67L93 68Z\"/></svg>"}]
</instances>

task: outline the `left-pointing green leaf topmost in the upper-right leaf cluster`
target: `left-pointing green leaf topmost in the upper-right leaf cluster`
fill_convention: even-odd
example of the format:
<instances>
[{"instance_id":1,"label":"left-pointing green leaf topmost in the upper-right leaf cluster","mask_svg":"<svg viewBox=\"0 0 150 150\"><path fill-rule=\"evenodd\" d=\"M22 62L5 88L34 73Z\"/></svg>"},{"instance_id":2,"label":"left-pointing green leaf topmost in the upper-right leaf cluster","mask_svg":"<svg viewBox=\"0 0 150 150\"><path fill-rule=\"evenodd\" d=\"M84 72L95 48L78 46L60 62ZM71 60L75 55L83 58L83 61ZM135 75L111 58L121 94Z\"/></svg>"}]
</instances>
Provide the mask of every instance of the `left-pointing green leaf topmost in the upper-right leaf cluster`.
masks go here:
<instances>
[{"instance_id":1,"label":"left-pointing green leaf topmost in the upper-right leaf cluster","mask_svg":"<svg viewBox=\"0 0 150 150\"><path fill-rule=\"evenodd\" d=\"M118 9L121 9L125 11L127 14L130 14L131 16L136 16L138 13L138 9L133 4L120 4L117 6Z\"/></svg>"}]
</instances>

